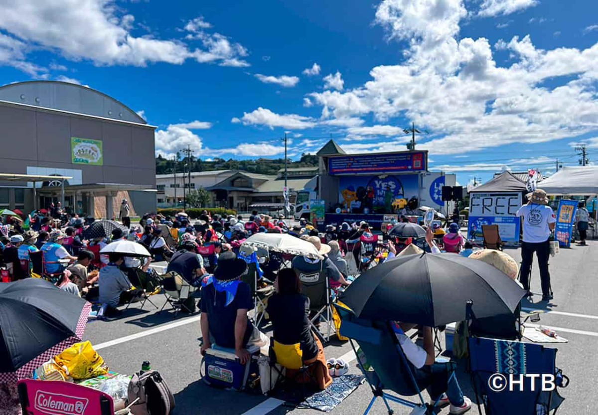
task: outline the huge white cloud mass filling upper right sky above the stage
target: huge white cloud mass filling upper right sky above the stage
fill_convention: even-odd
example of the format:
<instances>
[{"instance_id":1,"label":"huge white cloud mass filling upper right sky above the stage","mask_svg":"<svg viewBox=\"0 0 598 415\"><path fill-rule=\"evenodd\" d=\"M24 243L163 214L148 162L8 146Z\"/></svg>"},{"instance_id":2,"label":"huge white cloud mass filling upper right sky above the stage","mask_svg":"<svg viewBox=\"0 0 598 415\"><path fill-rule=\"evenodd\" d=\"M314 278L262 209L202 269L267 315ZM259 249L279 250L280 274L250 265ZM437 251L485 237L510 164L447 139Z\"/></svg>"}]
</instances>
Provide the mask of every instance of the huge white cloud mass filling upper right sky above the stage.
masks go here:
<instances>
[{"instance_id":1,"label":"huge white cloud mass filling upper right sky above the stage","mask_svg":"<svg viewBox=\"0 0 598 415\"><path fill-rule=\"evenodd\" d=\"M377 22L389 29L389 38L410 41L404 61L374 67L361 87L311 93L311 100L322 106L323 118L414 120L434 133L420 138L420 148L435 154L598 130L598 44L542 50L529 35L515 36L495 45L512 55L510 66L499 66L486 38L459 38L465 15L462 0L382 1ZM358 144L355 149L364 151L368 145L382 148Z\"/></svg>"}]
</instances>

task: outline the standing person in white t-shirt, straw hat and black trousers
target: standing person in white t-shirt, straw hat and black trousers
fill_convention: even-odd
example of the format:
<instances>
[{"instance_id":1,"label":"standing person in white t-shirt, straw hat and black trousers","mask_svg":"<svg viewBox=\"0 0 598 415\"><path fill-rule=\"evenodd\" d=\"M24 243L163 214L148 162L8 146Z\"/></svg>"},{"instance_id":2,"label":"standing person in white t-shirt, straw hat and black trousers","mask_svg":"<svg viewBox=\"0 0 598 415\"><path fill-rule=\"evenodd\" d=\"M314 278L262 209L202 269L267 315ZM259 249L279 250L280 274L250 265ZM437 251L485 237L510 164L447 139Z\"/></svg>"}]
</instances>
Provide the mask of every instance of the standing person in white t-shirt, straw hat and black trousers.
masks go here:
<instances>
[{"instance_id":1,"label":"standing person in white t-shirt, straw hat and black trousers","mask_svg":"<svg viewBox=\"0 0 598 415\"><path fill-rule=\"evenodd\" d=\"M527 297L533 294L529 291L529 274L532 270L533 253L538 257L540 280L542 282L542 301L553 299L550 289L550 272L548 271L548 257L550 257L550 233L554 230L556 216L548 205L548 197L542 189L536 189L527 195L527 205L517 210L517 216L523 218L523 242L521 243L521 278L520 282L527 291Z\"/></svg>"}]
</instances>

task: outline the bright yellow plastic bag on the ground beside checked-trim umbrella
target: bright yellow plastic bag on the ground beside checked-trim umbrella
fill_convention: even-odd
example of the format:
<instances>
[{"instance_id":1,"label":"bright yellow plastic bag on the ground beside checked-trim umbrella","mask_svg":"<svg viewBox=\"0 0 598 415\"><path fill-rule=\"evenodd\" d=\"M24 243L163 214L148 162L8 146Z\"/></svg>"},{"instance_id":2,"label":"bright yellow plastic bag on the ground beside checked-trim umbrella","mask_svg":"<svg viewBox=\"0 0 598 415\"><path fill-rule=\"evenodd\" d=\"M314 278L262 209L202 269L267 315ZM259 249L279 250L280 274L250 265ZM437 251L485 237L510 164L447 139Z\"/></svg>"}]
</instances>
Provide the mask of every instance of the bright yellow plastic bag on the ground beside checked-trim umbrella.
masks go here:
<instances>
[{"instance_id":1,"label":"bright yellow plastic bag on the ground beside checked-trim umbrella","mask_svg":"<svg viewBox=\"0 0 598 415\"><path fill-rule=\"evenodd\" d=\"M104 359L89 341L75 343L54 358L56 364L75 380L90 379L108 373Z\"/></svg>"}]
</instances>

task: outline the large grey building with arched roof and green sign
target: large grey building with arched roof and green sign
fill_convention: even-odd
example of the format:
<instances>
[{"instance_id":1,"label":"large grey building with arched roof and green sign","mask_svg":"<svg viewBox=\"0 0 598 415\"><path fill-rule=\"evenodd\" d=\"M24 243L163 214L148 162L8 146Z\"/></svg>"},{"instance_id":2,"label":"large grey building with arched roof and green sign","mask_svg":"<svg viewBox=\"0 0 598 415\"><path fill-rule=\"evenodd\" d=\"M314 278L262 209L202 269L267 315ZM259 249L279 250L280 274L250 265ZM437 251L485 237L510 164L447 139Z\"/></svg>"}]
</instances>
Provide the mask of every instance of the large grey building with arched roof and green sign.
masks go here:
<instances>
[{"instance_id":1,"label":"large grey building with arched roof and green sign","mask_svg":"<svg viewBox=\"0 0 598 415\"><path fill-rule=\"evenodd\" d=\"M0 209L52 202L118 216L155 210L154 126L99 91L56 81L0 87Z\"/></svg>"}]
</instances>

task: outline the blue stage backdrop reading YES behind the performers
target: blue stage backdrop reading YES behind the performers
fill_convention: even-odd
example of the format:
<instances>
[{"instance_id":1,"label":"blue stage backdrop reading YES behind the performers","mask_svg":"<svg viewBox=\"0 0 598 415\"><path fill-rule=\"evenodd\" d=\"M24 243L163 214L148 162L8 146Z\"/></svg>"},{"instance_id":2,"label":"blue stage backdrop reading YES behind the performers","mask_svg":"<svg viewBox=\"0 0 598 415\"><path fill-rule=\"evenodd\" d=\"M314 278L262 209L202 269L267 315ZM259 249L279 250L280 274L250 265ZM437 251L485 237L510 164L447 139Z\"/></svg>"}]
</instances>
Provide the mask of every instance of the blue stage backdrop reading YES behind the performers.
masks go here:
<instances>
[{"instance_id":1,"label":"blue stage backdrop reading YES behind the performers","mask_svg":"<svg viewBox=\"0 0 598 415\"><path fill-rule=\"evenodd\" d=\"M343 176L338 189L338 203L349 212L391 213L419 197L419 176Z\"/></svg>"}]
</instances>

